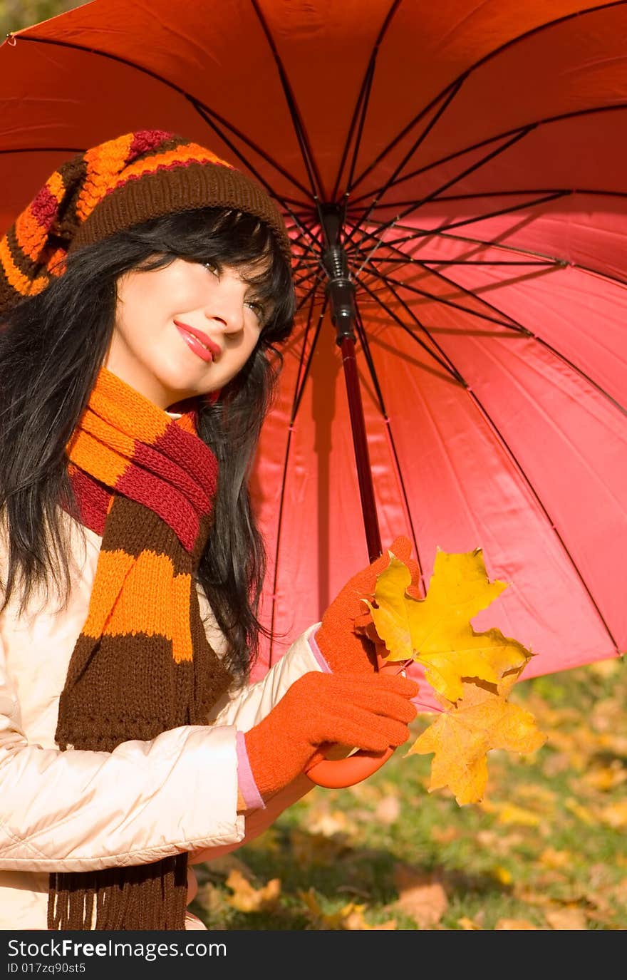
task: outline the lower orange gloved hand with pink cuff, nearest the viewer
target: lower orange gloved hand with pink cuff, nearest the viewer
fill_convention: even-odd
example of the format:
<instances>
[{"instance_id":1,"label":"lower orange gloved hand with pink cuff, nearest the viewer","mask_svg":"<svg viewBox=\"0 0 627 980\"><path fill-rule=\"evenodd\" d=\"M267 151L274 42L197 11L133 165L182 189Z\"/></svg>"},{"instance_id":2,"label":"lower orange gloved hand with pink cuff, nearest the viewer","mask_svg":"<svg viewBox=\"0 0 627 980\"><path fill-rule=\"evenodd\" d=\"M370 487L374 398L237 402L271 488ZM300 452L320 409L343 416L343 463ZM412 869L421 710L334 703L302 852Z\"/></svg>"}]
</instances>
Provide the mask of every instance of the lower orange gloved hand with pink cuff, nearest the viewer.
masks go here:
<instances>
[{"instance_id":1,"label":"lower orange gloved hand with pink cuff, nearest the viewer","mask_svg":"<svg viewBox=\"0 0 627 980\"><path fill-rule=\"evenodd\" d=\"M288 688L272 711L245 734L253 778L262 797L283 789L323 744L384 752L410 737L418 685L397 674L347 677L312 670Z\"/></svg>"}]
</instances>

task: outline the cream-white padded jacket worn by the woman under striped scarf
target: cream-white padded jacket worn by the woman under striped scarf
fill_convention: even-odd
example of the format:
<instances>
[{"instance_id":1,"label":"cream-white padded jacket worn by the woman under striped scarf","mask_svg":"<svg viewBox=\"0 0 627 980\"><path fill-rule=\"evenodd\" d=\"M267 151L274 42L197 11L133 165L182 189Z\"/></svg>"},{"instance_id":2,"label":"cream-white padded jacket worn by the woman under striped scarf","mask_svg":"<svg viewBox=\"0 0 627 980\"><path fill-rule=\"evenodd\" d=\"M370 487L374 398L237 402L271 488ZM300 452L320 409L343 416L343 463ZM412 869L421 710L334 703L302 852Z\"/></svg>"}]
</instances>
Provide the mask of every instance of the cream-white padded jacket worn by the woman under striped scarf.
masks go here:
<instances>
[{"instance_id":1,"label":"cream-white padded jacket worn by the woman under striped scarf","mask_svg":"<svg viewBox=\"0 0 627 980\"><path fill-rule=\"evenodd\" d=\"M16 597L0 617L1 929L47 928L52 869L89 871L180 851L189 852L190 865L211 860L258 836L313 788L302 776L265 809L246 816L236 810L236 731L265 717L301 674L320 669L308 642L317 623L262 680L223 697L206 726L124 742L112 753L59 751L59 697L102 543L73 521L71 528L69 602L51 609L34 596L21 614ZM221 637L200 591L199 601L219 653ZM191 901L191 870L189 879ZM186 927L205 928L191 913Z\"/></svg>"}]
</instances>

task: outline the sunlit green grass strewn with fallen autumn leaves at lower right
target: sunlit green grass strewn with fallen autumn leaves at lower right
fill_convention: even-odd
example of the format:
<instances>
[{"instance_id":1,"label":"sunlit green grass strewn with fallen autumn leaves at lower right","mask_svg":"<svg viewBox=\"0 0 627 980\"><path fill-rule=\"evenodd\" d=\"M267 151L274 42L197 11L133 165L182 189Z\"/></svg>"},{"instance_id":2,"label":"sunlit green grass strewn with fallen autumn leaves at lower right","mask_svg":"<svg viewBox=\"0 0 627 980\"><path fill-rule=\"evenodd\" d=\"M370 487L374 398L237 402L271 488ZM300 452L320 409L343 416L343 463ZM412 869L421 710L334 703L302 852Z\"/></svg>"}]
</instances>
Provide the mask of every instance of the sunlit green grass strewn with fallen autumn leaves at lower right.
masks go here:
<instances>
[{"instance_id":1,"label":"sunlit green grass strewn with fallen autumn leaves at lower right","mask_svg":"<svg viewBox=\"0 0 627 980\"><path fill-rule=\"evenodd\" d=\"M403 758L430 722L418 717L369 779L315 787L256 841L200 865L192 909L226 930L625 929L626 695L619 661L520 682L510 700L547 741L491 752L483 801L463 807L428 792L430 755ZM233 868L259 910L234 907ZM264 900L272 879L280 891Z\"/></svg>"}]
</instances>

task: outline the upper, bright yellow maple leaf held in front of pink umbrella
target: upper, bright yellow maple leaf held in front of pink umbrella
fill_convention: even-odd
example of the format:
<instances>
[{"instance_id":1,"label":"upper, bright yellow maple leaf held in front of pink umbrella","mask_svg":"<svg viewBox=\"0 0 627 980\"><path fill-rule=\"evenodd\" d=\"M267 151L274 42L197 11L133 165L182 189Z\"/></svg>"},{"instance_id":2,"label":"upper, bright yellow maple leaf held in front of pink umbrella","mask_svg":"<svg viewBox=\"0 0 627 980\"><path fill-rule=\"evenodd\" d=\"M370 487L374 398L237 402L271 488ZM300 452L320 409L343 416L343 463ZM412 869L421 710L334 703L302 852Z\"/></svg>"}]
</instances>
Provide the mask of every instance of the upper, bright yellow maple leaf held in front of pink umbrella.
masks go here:
<instances>
[{"instance_id":1,"label":"upper, bright yellow maple leaf held in front of pink umbrella","mask_svg":"<svg viewBox=\"0 0 627 980\"><path fill-rule=\"evenodd\" d=\"M472 616L507 587L490 582L481 549L448 554L438 548L424 599L408 594L410 571L389 555L390 564L377 577L374 603L364 599L387 659L422 663L426 680L449 702L461 696L463 677L510 687L512 674L534 655L499 629L477 633L470 625Z\"/></svg>"}]
</instances>

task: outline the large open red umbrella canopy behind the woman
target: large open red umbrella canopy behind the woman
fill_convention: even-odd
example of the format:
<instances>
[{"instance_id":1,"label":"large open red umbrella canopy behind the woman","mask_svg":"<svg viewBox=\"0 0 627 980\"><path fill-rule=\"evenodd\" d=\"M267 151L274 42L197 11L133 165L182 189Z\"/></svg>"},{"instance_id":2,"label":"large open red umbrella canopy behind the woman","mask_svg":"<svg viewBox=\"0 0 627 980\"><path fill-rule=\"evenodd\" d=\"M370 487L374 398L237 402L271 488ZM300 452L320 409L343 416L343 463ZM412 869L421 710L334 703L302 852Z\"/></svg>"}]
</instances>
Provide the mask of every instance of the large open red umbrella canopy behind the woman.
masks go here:
<instances>
[{"instance_id":1,"label":"large open red umbrella canopy behind the woman","mask_svg":"<svg viewBox=\"0 0 627 980\"><path fill-rule=\"evenodd\" d=\"M151 127L283 208L300 313L253 475L280 637L258 673L372 534L410 537L424 590L438 547L482 548L509 587L473 625L530 647L525 677L627 647L626 32L584 0L94 0L2 45L4 227Z\"/></svg>"}]
</instances>

